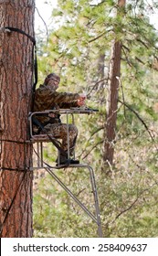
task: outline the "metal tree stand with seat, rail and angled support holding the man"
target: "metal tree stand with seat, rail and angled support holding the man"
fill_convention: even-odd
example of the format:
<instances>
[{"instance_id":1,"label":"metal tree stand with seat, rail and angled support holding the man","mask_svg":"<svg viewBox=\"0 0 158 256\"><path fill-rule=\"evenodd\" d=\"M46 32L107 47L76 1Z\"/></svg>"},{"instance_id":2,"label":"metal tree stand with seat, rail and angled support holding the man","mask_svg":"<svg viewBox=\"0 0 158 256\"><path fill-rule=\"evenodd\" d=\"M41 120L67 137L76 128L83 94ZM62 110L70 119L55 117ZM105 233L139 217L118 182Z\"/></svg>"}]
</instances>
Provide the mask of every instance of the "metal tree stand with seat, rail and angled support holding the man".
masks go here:
<instances>
[{"instance_id":1,"label":"metal tree stand with seat, rail and angled support holding the man","mask_svg":"<svg viewBox=\"0 0 158 256\"><path fill-rule=\"evenodd\" d=\"M92 219L98 227L98 236L102 238L102 229L101 229L101 221L100 221L100 208L99 208L99 199L98 199L98 193L97 193L97 187L96 187L96 181L94 176L93 168L90 165L87 164L78 164L78 165L48 165L46 161L43 159L43 144L46 142L51 142L51 138L53 140L56 140L56 138L53 138L51 134L47 136L47 134L34 134L33 132L33 119L37 114L46 114L46 113L52 113L57 112L57 110L47 110L45 112L30 112L28 117L29 122L29 133L30 133L30 140L29 143L36 143L37 144L37 165L30 167L30 170L38 170L38 169L45 169L50 176L52 176L57 182L60 187L62 187L78 205L80 208L82 208L87 215ZM67 127L68 127L68 115L71 115L72 117L72 123L74 123L74 114L90 114L95 112L95 110L91 109L81 109L81 108L73 108L73 109L61 109L59 110L60 114L66 114L67 116ZM51 136L51 138L50 138ZM67 140L68 140L68 157L69 157L69 133L67 128ZM59 150L58 150L58 161L59 161ZM59 163L59 162L58 162ZM78 197L76 197L70 189L61 181L61 179L57 176L55 170L61 169L61 168L84 168L87 169L90 173L90 184L91 189L94 197L94 208L95 208L95 214L90 212L90 210L79 200Z\"/></svg>"}]
</instances>

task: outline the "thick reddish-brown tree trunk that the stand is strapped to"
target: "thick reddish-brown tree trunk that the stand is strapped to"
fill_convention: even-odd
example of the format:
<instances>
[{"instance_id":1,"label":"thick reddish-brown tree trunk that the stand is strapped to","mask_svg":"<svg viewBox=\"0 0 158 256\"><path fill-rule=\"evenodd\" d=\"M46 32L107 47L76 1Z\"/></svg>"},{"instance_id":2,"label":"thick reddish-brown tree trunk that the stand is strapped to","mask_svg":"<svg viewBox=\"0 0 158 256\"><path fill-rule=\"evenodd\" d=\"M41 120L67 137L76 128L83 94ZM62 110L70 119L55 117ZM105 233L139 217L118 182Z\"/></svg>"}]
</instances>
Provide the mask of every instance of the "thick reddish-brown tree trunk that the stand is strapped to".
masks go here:
<instances>
[{"instance_id":1,"label":"thick reddish-brown tree trunk that the stand is strapped to","mask_svg":"<svg viewBox=\"0 0 158 256\"><path fill-rule=\"evenodd\" d=\"M34 0L0 1L0 27L34 37ZM32 237L32 145L27 140L33 82L33 43L17 32L0 31L1 237Z\"/></svg>"}]
</instances>

